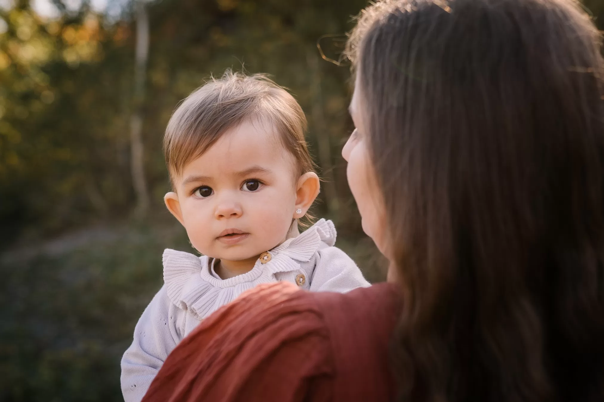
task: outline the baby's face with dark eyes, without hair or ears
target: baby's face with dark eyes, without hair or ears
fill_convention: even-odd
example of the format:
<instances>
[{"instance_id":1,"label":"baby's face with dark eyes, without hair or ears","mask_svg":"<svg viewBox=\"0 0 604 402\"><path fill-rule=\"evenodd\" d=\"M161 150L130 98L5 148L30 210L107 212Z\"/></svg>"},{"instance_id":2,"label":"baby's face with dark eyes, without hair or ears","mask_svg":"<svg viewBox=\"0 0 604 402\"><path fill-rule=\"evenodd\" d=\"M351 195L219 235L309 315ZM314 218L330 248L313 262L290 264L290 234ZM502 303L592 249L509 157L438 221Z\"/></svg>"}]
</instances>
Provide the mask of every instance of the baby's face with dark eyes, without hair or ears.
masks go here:
<instances>
[{"instance_id":1,"label":"baby's face with dark eyes, without hair or ears","mask_svg":"<svg viewBox=\"0 0 604 402\"><path fill-rule=\"evenodd\" d=\"M242 123L175 178L181 223L202 254L245 260L285 240L297 180L277 135L258 121Z\"/></svg>"}]
</instances>

